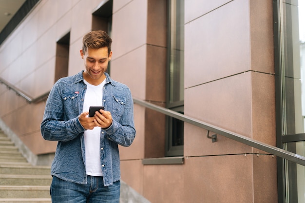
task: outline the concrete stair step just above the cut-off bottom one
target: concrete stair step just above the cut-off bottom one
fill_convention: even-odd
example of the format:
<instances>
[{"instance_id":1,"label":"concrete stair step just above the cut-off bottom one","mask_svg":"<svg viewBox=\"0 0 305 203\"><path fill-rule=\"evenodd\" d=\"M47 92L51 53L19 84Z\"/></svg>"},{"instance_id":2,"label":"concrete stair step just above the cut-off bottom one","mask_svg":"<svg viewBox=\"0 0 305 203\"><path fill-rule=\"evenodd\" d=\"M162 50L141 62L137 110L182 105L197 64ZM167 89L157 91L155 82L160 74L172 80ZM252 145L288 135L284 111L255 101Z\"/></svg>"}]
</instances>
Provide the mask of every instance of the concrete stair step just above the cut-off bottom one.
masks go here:
<instances>
[{"instance_id":1,"label":"concrete stair step just above the cut-off bottom one","mask_svg":"<svg viewBox=\"0 0 305 203\"><path fill-rule=\"evenodd\" d=\"M51 198L50 186L0 185L1 198Z\"/></svg>"}]
</instances>

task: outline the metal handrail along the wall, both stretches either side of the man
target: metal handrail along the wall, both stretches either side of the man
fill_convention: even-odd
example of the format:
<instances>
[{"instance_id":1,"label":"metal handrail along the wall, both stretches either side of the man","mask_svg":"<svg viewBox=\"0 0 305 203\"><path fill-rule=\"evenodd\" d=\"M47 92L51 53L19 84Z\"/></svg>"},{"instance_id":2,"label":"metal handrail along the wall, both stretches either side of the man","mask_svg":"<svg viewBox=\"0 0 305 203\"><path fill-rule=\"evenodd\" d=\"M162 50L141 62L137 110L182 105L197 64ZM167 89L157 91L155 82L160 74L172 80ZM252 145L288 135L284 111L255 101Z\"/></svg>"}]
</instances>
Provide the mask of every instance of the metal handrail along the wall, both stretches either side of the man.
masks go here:
<instances>
[{"instance_id":1,"label":"metal handrail along the wall, both stretches either side of the man","mask_svg":"<svg viewBox=\"0 0 305 203\"><path fill-rule=\"evenodd\" d=\"M26 95L24 92L20 91L18 88L14 87L12 84L8 83L7 81L5 81L2 78L0 78L0 84L1 83L6 85L6 87L8 89L13 90L18 95L25 98L29 103L36 103L36 102L42 101L42 100L46 99L48 97L49 93L50 93L50 92L46 92L46 93L42 94L41 96L38 96L37 98L32 98L32 97ZM173 118L179 119L181 121L190 123L194 126L197 126L197 127L212 131L216 134L228 137L232 140L243 143L243 144L248 145L250 147L260 149L260 150L265 151L267 153L273 154L275 156L278 156L278 157L284 158L286 160L289 160L289 161L295 162L297 164L300 164L302 166L305 166L305 157L301 156L299 154L295 154L295 153L292 153L290 151L286 151L284 149L277 148L277 147L268 145L266 143L262 143L260 141L251 139L249 137L240 135L238 133L231 132L229 130L213 126L213 125L205 123L203 121L191 118L191 117L189 117L187 115L184 115L182 113L178 113L176 111L172 111L172 110L157 106L157 105L152 104L152 103L147 102L147 101L143 101L143 100L140 100L140 99L133 98L133 102L135 104L139 104L143 107L152 109L154 111L161 112L165 115L168 115L168 116L171 116Z\"/></svg>"}]
</instances>

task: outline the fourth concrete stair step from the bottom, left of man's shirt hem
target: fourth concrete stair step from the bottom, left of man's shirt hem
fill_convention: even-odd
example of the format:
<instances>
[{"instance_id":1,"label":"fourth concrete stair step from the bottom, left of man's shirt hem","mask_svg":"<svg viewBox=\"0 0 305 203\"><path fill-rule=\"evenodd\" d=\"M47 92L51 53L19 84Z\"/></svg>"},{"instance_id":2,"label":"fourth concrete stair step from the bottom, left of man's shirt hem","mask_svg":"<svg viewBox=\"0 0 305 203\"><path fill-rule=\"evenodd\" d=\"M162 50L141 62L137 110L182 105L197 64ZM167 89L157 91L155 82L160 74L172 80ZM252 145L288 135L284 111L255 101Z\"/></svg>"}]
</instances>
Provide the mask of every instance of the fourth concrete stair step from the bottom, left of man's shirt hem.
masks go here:
<instances>
[{"instance_id":1,"label":"fourth concrete stair step from the bottom, left of man's shirt hem","mask_svg":"<svg viewBox=\"0 0 305 203\"><path fill-rule=\"evenodd\" d=\"M27 174L27 175L50 175L49 166L13 165L12 163L0 164L0 174Z\"/></svg>"}]
</instances>

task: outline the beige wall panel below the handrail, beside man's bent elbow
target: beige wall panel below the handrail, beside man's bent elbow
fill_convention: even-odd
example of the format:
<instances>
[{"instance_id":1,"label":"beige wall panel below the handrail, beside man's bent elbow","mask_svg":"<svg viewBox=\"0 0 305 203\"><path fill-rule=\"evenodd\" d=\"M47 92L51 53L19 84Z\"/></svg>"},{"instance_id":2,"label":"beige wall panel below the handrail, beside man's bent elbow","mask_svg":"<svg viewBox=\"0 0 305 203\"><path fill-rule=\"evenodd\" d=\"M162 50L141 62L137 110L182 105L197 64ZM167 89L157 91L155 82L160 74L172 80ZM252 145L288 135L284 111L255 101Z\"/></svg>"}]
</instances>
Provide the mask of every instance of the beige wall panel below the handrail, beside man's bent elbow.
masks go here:
<instances>
[{"instance_id":1,"label":"beige wall panel below the handrail, beside man's bent elbow","mask_svg":"<svg viewBox=\"0 0 305 203\"><path fill-rule=\"evenodd\" d=\"M144 126L145 120L142 119L145 116L145 108L139 105L133 106L133 117L136 135L133 140L133 144L130 147L119 146L120 159L131 160L131 159L143 159L144 158Z\"/></svg>"}]
</instances>

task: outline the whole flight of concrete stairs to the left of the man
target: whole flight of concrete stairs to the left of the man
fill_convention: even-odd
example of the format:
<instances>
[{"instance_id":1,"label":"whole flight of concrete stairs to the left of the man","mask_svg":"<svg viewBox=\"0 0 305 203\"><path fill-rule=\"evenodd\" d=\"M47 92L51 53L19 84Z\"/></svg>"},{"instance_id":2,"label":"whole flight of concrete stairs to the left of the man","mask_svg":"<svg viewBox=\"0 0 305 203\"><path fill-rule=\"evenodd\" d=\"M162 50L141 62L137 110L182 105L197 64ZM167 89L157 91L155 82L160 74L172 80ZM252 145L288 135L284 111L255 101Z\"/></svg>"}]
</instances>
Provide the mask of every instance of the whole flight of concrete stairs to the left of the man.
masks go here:
<instances>
[{"instance_id":1,"label":"whole flight of concrete stairs to the left of the man","mask_svg":"<svg viewBox=\"0 0 305 203\"><path fill-rule=\"evenodd\" d=\"M32 166L0 129L0 203L52 203L50 166Z\"/></svg>"}]
</instances>

